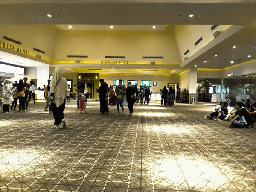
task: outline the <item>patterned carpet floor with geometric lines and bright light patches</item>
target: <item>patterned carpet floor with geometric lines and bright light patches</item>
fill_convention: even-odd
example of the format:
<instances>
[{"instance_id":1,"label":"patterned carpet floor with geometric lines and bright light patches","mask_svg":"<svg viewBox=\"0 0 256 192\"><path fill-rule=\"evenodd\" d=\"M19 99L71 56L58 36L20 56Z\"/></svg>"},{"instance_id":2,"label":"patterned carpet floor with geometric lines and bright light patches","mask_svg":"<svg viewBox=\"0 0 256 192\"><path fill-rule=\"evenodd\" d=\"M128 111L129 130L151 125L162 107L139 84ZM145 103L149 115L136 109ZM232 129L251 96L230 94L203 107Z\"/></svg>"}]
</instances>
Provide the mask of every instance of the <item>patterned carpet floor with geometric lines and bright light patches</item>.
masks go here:
<instances>
[{"instance_id":1,"label":"patterned carpet floor with geometric lines and bright light patches","mask_svg":"<svg viewBox=\"0 0 256 192\"><path fill-rule=\"evenodd\" d=\"M153 102L130 117L88 104L68 103L59 130L43 103L0 113L0 191L256 191L256 130L204 120L212 105Z\"/></svg>"}]
</instances>

